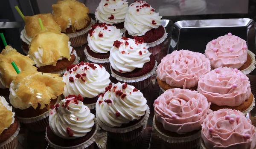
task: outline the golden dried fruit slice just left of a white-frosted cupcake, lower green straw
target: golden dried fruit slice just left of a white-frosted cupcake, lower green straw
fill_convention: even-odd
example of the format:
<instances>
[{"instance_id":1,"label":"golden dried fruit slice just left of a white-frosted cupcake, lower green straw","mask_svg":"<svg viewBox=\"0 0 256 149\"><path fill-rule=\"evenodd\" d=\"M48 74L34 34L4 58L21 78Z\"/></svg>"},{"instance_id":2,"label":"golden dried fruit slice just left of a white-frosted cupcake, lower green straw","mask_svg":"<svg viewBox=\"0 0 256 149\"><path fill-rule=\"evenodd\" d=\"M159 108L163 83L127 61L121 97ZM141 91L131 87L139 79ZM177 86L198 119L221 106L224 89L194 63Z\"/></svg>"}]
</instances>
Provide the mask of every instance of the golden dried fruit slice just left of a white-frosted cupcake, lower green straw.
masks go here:
<instances>
[{"instance_id":1,"label":"golden dried fruit slice just left of a white-frosted cupcake, lower green straw","mask_svg":"<svg viewBox=\"0 0 256 149\"><path fill-rule=\"evenodd\" d=\"M19 109L34 109L41 105L44 109L51 99L56 99L64 91L64 82L60 74L41 72L20 72L11 84L10 102Z\"/></svg>"}]
</instances>

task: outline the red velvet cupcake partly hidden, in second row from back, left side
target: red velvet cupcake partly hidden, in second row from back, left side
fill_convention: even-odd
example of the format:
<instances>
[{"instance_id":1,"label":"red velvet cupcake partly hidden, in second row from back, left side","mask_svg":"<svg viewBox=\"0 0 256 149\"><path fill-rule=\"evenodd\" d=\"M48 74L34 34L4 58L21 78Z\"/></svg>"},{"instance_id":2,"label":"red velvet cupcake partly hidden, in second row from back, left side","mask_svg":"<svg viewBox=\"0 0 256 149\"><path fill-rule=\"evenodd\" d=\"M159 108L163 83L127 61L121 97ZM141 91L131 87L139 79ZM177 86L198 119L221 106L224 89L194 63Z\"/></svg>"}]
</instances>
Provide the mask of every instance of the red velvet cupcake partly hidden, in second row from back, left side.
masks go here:
<instances>
[{"instance_id":1,"label":"red velvet cupcake partly hidden, in second row from back, left side","mask_svg":"<svg viewBox=\"0 0 256 149\"><path fill-rule=\"evenodd\" d=\"M87 40L88 45L84 49L87 60L91 63L97 63L110 70L109 55L114 41L120 40L122 33L116 26L110 26L106 23L95 23L90 29Z\"/></svg>"}]
</instances>

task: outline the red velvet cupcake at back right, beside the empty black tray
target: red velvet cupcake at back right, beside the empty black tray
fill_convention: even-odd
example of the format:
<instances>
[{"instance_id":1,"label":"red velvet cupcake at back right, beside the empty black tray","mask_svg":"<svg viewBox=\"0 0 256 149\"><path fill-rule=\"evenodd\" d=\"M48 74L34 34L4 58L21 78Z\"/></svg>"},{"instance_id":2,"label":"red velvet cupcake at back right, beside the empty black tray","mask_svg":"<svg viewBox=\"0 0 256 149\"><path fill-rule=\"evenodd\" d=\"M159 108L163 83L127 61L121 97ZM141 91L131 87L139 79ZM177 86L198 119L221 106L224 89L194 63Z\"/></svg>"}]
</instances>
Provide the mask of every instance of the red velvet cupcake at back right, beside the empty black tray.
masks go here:
<instances>
[{"instance_id":1,"label":"red velvet cupcake at back right, beside the empty black tray","mask_svg":"<svg viewBox=\"0 0 256 149\"><path fill-rule=\"evenodd\" d=\"M128 7L125 15L125 36L143 37L149 52L156 55L163 48L163 41L167 38L166 30L161 25L161 18L147 2L135 1Z\"/></svg>"}]
</instances>

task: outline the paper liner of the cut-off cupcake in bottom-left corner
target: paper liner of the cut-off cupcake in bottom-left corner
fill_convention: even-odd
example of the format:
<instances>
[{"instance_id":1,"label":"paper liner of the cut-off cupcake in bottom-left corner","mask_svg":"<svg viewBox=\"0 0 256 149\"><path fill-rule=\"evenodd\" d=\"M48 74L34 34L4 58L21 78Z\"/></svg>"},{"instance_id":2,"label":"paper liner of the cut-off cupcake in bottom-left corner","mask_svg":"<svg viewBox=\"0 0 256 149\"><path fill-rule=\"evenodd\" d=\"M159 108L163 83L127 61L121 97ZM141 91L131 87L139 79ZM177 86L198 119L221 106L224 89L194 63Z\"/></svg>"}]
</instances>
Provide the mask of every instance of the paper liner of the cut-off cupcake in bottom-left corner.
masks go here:
<instances>
[{"instance_id":1,"label":"paper liner of the cut-off cupcake in bottom-left corner","mask_svg":"<svg viewBox=\"0 0 256 149\"><path fill-rule=\"evenodd\" d=\"M16 149L18 145L18 138L17 135L20 132L20 123L16 130L16 132L10 137L8 140L0 144L0 149Z\"/></svg>"}]
</instances>

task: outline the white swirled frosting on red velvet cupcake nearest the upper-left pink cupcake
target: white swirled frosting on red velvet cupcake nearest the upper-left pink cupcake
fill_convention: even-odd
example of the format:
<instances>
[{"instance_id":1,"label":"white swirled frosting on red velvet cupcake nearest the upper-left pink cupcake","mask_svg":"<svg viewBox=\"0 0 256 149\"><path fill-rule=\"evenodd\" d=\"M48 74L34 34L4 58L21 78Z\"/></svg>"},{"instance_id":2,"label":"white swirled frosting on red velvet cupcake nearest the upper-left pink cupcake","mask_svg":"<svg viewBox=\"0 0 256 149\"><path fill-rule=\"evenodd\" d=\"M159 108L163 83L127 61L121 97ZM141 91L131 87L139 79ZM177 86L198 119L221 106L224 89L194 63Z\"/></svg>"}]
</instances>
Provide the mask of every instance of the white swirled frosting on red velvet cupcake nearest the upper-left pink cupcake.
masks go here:
<instances>
[{"instance_id":1,"label":"white swirled frosting on red velvet cupcake nearest the upper-left pink cupcake","mask_svg":"<svg viewBox=\"0 0 256 149\"><path fill-rule=\"evenodd\" d=\"M147 43L136 39L123 37L114 42L109 56L113 69L122 73L132 72L150 61L151 53L148 52Z\"/></svg>"}]
</instances>

